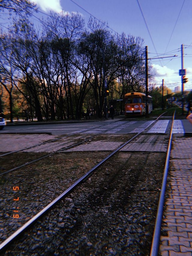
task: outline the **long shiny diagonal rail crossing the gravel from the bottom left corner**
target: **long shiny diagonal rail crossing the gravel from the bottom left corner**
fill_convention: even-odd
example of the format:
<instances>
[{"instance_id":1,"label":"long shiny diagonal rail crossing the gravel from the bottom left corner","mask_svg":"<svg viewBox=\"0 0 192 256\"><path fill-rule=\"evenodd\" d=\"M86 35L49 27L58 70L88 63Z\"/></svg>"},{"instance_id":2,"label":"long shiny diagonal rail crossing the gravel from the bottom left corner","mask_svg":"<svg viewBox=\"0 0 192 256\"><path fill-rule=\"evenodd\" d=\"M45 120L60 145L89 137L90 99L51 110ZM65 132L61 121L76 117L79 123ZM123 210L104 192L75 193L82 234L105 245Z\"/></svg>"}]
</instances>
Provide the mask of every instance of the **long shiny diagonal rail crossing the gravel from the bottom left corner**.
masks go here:
<instances>
[{"instance_id":1,"label":"long shiny diagonal rail crossing the gravel from the bottom left corner","mask_svg":"<svg viewBox=\"0 0 192 256\"><path fill-rule=\"evenodd\" d=\"M166 112L165 112L166 113ZM164 113L163 113L164 114ZM163 115L162 114L162 115ZM162 116L161 115L161 116ZM124 144L119 146L116 150L111 152L106 158L101 160L98 164L96 164L91 170L89 170L87 173L85 173L81 178L79 178L76 182L74 182L69 188L67 188L62 194L60 194L57 198L55 198L51 203L49 203L44 209L42 209L40 212L38 212L35 216L33 216L29 221L27 221L22 227L20 227L18 230L16 230L11 236L9 236L4 242L0 244L0 251L4 249L11 241L13 241L17 236L19 236L24 230L26 230L33 222L37 221L45 212L47 212L49 209L51 209L56 203L58 203L59 200L61 200L63 197L70 194L78 185L80 185L82 182L84 182L86 179L88 179L98 167L100 167L105 161L107 161L111 156L113 156L117 151L122 149L125 145L127 145L129 142L131 142L135 137L137 137L139 134L141 134L143 131L145 131L149 126L151 126L155 121L157 121L161 116L159 116L156 120L154 120L151 124L149 124L146 128L144 128L142 131L140 131L138 134L134 135L130 140L126 141Z\"/></svg>"}]
</instances>

